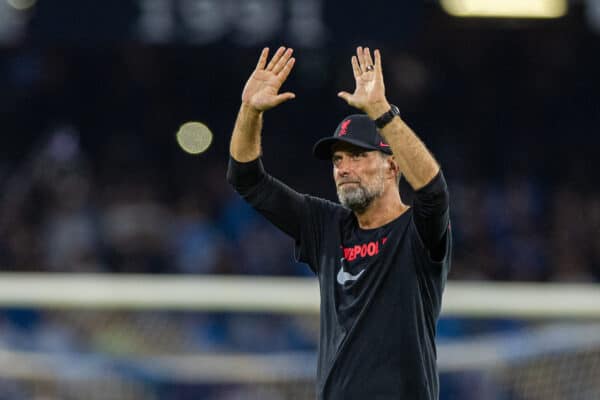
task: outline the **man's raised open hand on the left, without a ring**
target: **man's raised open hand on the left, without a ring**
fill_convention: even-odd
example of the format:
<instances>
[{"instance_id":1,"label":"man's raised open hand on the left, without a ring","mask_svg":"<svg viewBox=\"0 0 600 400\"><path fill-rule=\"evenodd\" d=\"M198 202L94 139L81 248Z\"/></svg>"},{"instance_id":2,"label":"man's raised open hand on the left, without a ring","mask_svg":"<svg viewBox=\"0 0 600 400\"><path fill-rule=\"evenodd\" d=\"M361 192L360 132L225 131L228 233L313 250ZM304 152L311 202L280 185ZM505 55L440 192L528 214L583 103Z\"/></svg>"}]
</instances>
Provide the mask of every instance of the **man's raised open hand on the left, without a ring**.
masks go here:
<instances>
[{"instance_id":1,"label":"man's raised open hand on the left, without a ring","mask_svg":"<svg viewBox=\"0 0 600 400\"><path fill-rule=\"evenodd\" d=\"M280 47L267 65L269 48L263 49L254 72L244 86L242 92L244 105L263 112L296 97L291 92L279 94L279 89L289 76L296 61L292 57L292 52L291 48Z\"/></svg>"}]
</instances>

